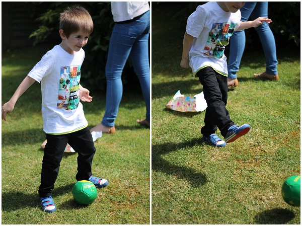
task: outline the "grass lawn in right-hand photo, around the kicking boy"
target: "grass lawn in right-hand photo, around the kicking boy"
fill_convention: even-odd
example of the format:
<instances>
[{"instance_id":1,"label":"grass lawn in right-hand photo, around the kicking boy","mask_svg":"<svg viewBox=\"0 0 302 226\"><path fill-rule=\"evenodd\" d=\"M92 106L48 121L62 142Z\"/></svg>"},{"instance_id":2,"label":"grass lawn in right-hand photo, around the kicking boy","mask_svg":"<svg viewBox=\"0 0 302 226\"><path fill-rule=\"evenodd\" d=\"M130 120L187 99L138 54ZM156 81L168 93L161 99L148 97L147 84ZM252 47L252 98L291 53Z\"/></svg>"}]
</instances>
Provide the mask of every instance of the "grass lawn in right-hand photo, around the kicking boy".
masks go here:
<instances>
[{"instance_id":1,"label":"grass lawn in right-hand photo, around the kicking boy","mask_svg":"<svg viewBox=\"0 0 302 226\"><path fill-rule=\"evenodd\" d=\"M215 148L201 141L205 111L165 107L178 90L194 96L202 86L179 65L186 21L173 16L182 5L152 6L152 223L300 224L300 207L281 197L282 183L300 175L299 51L278 49L274 82L253 76L265 70L261 48L244 53L227 109L251 130Z\"/></svg>"}]
</instances>

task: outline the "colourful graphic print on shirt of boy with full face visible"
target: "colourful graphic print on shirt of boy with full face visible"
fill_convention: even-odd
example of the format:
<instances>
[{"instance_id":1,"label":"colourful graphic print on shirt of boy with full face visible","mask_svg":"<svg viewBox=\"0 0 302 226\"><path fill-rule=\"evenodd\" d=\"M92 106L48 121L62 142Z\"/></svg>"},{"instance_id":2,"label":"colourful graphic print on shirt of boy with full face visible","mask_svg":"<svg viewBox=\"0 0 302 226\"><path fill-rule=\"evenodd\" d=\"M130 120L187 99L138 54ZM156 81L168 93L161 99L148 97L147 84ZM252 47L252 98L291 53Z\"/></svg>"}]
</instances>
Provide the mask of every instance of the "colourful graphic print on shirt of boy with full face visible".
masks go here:
<instances>
[{"instance_id":1,"label":"colourful graphic print on shirt of boy with full face visible","mask_svg":"<svg viewBox=\"0 0 302 226\"><path fill-rule=\"evenodd\" d=\"M80 79L81 65L61 67L57 108L73 110L78 107Z\"/></svg>"}]
</instances>

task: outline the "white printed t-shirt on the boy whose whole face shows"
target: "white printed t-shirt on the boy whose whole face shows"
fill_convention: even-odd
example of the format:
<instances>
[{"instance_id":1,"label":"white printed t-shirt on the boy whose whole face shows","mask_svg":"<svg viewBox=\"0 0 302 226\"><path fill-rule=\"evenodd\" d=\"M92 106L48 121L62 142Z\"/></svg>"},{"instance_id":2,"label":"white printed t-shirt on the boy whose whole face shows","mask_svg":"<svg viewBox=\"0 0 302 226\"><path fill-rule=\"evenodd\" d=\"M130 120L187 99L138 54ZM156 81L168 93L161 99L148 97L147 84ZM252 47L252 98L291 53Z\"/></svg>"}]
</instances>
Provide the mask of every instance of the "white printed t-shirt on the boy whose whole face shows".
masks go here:
<instances>
[{"instance_id":1,"label":"white printed t-shirt on the boy whose whole face shows","mask_svg":"<svg viewBox=\"0 0 302 226\"><path fill-rule=\"evenodd\" d=\"M50 134L77 131L88 125L79 98L85 52L74 55L59 45L48 51L28 76L41 82L43 130Z\"/></svg>"}]
</instances>

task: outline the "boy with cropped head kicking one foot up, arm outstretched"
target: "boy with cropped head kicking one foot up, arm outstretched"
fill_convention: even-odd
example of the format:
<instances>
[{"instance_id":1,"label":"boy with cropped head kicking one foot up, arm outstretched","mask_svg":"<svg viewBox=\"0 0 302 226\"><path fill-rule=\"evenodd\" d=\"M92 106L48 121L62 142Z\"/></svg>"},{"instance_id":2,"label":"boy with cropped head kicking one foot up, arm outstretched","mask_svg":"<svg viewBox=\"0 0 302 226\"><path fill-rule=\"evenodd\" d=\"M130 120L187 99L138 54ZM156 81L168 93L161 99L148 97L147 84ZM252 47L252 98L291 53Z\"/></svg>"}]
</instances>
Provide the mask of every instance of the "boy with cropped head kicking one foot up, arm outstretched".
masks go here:
<instances>
[{"instance_id":1,"label":"boy with cropped head kicking one foot up, arm outstretched","mask_svg":"<svg viewBox=\"0 0 302 226\"><path fill-rule=\"evenodd\" d=\"M250 130L249 124L237 126L231 120L225 105L228 99L228 67L224 48L234 31L258 27L272 22L259 17L254 21L240 22L239 9L245 2L209 2L198 6L190 15L183 41L180 65L191 67L199 78L207 102L202 140L217 147L235 141ZM215 131L220 130L225 141ZM225 143L226 142L226 143Z\"/></svg>"}]
</instances>

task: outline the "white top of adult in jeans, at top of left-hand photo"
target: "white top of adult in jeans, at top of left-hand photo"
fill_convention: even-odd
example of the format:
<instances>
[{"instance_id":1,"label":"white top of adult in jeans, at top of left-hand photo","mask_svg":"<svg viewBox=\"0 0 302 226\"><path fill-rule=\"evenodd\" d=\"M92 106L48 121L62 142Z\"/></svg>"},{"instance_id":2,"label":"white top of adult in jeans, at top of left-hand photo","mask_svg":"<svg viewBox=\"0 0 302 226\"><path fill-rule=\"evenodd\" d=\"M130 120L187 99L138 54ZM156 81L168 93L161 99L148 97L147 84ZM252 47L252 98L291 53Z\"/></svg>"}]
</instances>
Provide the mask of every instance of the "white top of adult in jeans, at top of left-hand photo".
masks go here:
<instances>
[{"instance_id":1,"label":"white top of adult in jeans, at top of left-hand photo","mask_svg":"<svg viewBox=\"0 0 302 226\"><path fill-rule=\"evenodd\" d=\"M114 22L132 20L149 10L148 2L111 2Z\"/></svg>"}]
</instances>

